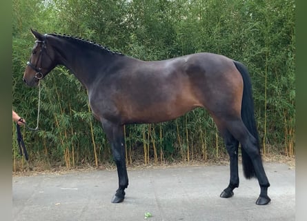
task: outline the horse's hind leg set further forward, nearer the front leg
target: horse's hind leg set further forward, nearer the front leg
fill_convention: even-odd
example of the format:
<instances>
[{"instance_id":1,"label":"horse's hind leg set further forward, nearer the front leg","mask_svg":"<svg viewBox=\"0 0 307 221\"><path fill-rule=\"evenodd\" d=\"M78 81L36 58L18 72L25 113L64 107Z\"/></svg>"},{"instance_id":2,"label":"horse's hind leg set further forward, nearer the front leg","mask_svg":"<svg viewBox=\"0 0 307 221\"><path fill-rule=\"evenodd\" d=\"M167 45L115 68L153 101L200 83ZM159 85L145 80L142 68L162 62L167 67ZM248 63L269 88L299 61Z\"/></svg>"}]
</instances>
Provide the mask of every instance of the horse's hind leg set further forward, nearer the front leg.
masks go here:
<instances>
[{"instance_id":1,"label":"horse's hind leg set further forward, nearer the front leg","mask_svg":"<svg viewBox=\"0 0 307 221\"><path fill-rule=\"evenodd\" d=\"M227 129L221 131L224 138L226 149L230 159L230 182L226 189L221 192L221 198L231 198L233 190L239 187L239 171L238 171L238 148L239 142L229 133Z\"/></svg>"}]
</instances>

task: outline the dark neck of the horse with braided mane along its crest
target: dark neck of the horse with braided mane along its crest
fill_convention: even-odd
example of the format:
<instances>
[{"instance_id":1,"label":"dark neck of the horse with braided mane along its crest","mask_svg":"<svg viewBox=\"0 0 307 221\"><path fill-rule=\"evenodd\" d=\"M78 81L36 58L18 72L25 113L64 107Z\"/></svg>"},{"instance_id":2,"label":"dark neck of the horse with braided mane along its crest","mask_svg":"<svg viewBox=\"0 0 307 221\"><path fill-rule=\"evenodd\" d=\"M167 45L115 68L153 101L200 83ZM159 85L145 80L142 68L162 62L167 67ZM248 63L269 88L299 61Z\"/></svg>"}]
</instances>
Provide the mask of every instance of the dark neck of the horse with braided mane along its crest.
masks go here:
<instances>
[{"instance_id":1,"label":"dark neck of the horse with braided mane along its crest","mask_svg":"<svg viewBox=\"0 0 307 221\"><path fill-rule=\"evenodd\" d=\"M101 73L101 70L106 70L106 66L111 66L112 61L116 60L119 55L112 55L103 48L95 48L95 46L81 45L74 42L61 42L56 44L57 63L66 66L79 81L90 88L90 85L97 81L97 77L106 73Z\"/></svg>"}]
</instances>

